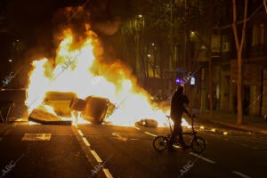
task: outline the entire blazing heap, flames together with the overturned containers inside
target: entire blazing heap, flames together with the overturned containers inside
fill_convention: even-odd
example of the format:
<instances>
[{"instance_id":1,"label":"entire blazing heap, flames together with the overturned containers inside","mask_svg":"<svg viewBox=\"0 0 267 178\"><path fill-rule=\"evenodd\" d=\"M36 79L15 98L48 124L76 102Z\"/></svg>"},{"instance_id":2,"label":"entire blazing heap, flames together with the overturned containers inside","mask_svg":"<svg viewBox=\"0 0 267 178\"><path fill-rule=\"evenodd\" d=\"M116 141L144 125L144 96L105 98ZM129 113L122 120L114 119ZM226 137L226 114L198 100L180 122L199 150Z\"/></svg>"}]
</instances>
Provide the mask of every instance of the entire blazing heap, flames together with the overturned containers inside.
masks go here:
<instances>
[{"instance_id":1,"label":"entire blazing heap, flames together with the overturned containers inside","mask_svg":"<svg viewBox=\"0 0 267 178\"><path fill-rule=\"evenodd\" d=\"M78 42L71 29L64 30L55 59L32 62L29 119L51 116L98 124L105 119L113 125L134 125L153 118L164 125L165 113L152 107L150 94L137 84L131 70L121 61L105 63L99 39L85 26L87 36Z\"/></svg>"}]
</instances>

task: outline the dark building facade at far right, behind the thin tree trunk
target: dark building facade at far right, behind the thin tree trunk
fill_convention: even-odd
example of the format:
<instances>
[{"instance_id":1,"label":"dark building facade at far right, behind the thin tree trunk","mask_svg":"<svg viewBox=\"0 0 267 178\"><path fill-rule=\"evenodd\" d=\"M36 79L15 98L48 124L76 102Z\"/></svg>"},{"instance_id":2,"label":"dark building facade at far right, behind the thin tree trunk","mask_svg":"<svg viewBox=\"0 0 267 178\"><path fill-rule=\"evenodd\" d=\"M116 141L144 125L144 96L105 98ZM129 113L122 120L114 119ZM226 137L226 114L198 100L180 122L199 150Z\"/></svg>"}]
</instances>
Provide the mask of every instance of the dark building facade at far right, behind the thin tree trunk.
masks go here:
<instances>
[{"instance_id":1,"label":"dark building facade at far right, behind the thin tree trunk","mask_svg":"<svg viewBox=\"0 0 267 178\"><path fill-rule=\"evenodd\" d=\"M242 53L242 105L245 115L264 116L267 114L267 12L263 1L250 3L247 14L246 40ZM231 12L228 14L231 16ZM242 11L240 14L242 15ZM214 42L220 44L220 53L213 58L213 83L217 100L215 108L223 112L236 113L237 51L231 28L231 18L227 17L226 19L229 24L216 29L220 39ZM239 20L239 37L242 26L243 21Z\"/></svg>"}]
</instances>

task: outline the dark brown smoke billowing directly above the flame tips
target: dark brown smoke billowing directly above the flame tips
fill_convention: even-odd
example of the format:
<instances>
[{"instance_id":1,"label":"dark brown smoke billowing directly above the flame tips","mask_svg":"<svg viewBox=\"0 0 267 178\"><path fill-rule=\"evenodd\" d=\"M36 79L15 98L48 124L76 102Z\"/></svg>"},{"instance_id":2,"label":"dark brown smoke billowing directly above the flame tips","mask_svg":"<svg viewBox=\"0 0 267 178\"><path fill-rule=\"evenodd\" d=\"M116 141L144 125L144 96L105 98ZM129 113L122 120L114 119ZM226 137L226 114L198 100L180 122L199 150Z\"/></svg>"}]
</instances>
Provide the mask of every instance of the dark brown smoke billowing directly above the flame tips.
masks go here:
<instances>
[{"instance_id":1,"label":"dark brown smoke billowing directly above the flame tips","mask_svg":"<svg viewBox=\"0 0 267 178\"><path fill-rule=\"evenodd\" d=\"M101 40L104 48L103 58L106 62L123 59L121 55L121 40L118 30L121 18L116 14L114 1L91 0L76 7L61 8L53 14L53 45L57 47L61 42L62 31L71 28L75 34L76 43L85 39L88 27ZM116 4L117 7L117 4ZM87 24L87 26L85 26Z\"/></svg>"}]
</instances>

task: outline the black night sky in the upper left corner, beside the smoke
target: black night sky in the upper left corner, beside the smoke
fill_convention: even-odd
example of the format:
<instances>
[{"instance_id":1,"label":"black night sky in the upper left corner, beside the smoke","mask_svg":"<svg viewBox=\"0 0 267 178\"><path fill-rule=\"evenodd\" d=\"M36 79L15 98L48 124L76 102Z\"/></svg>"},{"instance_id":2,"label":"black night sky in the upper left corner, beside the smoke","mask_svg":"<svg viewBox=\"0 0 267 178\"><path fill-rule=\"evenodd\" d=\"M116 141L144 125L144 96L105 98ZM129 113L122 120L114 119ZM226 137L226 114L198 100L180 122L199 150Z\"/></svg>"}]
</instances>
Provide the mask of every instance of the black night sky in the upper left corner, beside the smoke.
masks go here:
<instances>
[{"instance_id":1,"label":"black night sky in the upper left corner, beside the smoke","mask_svg":"<svg viewBox=\"0 0 267 178\"><path fill-rule=\"evenodd\" d=\"M5 8L3 9L10 30L8 33L0 34L4 57L11 57L12 43L16 39L20 39L26 46L26 50L43 48L43 50L37 51L44 53L45 48L51 45L52 16L53 12L61 7L60 2L67 1L5 0ZM62 6L65 5L69 4Z\"/></svg>"}]
</instances>

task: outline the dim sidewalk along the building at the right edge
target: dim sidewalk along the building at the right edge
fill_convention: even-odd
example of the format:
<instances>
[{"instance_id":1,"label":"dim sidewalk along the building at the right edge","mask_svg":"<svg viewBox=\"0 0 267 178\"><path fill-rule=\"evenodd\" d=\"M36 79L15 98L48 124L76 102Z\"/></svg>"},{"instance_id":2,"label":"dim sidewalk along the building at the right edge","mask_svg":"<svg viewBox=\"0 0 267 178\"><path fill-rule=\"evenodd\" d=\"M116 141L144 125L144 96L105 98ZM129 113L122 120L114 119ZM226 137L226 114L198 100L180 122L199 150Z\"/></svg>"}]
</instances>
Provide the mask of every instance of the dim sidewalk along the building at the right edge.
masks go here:
<instances>
[{"instance_id":1,"label":"dim sidewalk along the building at the right edge","mask_svg":"<svg viewBox=\"0 0 267 178\"><path fill-rule=\"evenodd\" d=\"M267 134L267 121L264 117L244 116L243 124L237 125L237 115L229 113L214 112L214 119L210 119L210 114L199 114L199 121L211 122L214 124L226 125L253 133Z\"/></svg>"}]
</instances>

